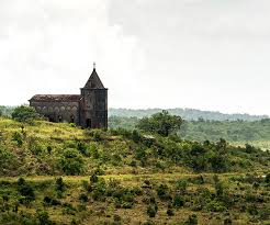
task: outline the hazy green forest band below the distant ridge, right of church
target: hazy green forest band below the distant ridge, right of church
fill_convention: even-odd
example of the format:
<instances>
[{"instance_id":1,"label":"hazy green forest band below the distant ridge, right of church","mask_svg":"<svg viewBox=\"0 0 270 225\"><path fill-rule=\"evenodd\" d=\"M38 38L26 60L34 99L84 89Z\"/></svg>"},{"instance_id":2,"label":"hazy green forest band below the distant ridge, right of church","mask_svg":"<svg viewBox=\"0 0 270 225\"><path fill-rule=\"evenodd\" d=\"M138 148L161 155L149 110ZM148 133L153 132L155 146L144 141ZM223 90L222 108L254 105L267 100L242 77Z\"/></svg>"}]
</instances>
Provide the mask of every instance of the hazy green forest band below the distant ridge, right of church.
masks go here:
<instances>
[{"instance_id":1,"label":"hazy green forest band below the distant ridge, right of church","mask_svg":"<svg viewBox=\"0 0 270 225\"><path fill-rule=\"evenodd\" d=\"M138 124L137 117L109 117L111 128L122 127L134 130ZM260 121L184 121L179 130L182 138L203 142L217 142L225 138L228 142L270 140L270 120Z\"/></svg>"}]
</instances>

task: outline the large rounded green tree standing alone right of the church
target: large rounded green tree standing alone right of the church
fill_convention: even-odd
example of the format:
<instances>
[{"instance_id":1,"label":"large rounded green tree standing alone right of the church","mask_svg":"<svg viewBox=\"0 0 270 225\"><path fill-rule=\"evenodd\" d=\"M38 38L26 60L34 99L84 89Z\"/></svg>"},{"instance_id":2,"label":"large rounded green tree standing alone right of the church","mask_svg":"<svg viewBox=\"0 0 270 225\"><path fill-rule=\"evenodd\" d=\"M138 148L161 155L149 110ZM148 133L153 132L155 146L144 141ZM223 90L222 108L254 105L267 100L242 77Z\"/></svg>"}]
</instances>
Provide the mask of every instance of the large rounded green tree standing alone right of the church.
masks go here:
<instances>
[{"instance_id":1,"label":"large rounded green tree standing alone right of the church","mask_svg":"<svg viewBox=\"0 0 270 225\"><path fill-rule=\"evenodd\" d=\"M145 132L169 136L180 130L182 123L183 120L180 116L170 115L168 111L164 110L160 113L153 114L150 117L143 117L137 127Z\"/></svg>"}]
</instances>

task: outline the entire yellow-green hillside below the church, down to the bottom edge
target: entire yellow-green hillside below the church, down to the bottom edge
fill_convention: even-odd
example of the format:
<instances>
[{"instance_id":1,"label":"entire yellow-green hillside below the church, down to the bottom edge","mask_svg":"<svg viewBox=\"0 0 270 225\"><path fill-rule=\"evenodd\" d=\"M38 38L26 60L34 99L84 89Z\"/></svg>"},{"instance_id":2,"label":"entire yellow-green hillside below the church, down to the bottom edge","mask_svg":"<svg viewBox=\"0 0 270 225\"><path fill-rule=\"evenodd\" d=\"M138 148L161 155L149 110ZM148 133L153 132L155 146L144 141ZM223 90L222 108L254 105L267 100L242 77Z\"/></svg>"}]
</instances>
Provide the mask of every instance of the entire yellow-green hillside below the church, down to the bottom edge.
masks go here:
<instances>
[{"instance_id":1,"label":"entire yellow-green hillside below the church, down to the bottom edge","mask_svg":"<svg viewBox=\"0 0 270 225\"><path fill-rule=\"evenodd\" d=\"M72 126L0 117L0 224L270 223L269 151Z\"/></svg>"}]
</instances>

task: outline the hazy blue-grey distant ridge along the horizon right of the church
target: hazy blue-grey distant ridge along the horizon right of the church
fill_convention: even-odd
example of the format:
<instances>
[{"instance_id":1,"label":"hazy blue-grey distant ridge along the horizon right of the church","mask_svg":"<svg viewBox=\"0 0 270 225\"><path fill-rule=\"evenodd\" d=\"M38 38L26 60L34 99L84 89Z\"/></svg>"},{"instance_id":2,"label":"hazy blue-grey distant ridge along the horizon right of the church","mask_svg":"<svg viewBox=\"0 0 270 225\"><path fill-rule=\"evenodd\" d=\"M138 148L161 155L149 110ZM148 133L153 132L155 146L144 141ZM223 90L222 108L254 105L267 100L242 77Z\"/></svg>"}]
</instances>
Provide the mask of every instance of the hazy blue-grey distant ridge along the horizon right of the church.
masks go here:
<instances>
[{"instance_id":1,"label":"hazy blue-grey distant ridge along the horizon right of the church","mask_svg":"<svg viewBox=\"0 0 270 225\"><path fill-rule=\"evenodd\" d=\"M130 110L130 109L110 109L109 116L121 117L144 117L154 113L160 112L162 109L147 109L147 110ZM201 111L194 109L168 109L171 114L180 115L187 121L198 121L199 119L210 121L260 121L262 119L269 119L268 115L249 115L249 114L224 114L213 111Z\"/></svg>"}]
</instances>

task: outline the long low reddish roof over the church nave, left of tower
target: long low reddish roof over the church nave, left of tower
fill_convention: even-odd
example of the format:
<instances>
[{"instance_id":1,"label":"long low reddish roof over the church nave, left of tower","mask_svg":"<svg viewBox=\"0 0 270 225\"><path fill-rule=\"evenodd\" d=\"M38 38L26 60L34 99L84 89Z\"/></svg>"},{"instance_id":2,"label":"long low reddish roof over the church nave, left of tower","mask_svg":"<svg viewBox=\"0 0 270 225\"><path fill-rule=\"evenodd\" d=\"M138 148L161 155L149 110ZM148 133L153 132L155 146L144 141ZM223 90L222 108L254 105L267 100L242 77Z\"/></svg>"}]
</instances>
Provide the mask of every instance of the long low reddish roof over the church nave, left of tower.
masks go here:
<instances>
[{"instance_id":1,"label":"long low reddish roof over the church nave, left of tower","mask_svg":"<svg viewBox=\"0 0 270 225\"><path fill-rule=\"evenodd\" d=\"M35 94L30 101L77 102L80 98L79 94Z\"/></svg>"}]
</instances>

